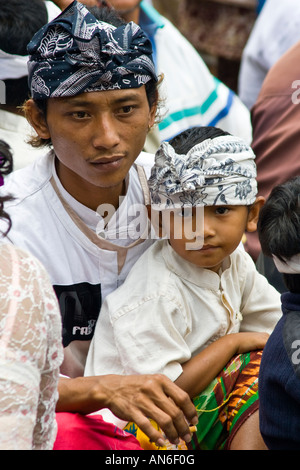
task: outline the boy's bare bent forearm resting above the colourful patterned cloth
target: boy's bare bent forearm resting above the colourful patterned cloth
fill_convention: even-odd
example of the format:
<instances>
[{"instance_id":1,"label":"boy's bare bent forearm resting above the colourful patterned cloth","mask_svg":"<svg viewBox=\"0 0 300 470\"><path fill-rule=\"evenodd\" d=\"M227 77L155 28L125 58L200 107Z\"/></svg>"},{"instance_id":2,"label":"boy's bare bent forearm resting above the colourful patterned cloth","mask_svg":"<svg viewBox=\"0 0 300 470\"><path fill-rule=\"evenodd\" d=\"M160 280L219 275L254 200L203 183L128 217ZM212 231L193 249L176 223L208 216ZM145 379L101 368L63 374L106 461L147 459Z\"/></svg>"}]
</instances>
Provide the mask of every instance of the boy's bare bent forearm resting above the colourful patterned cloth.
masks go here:
<instances>
[{"instance_id":1,"label":"boy's bare bent forearm resting above the colourful patterned cloth","mask_svg":"<svg viewBox=\"0 0 300 470\"><path fill-rule=\"evenodd\" d=\"M183 372L175 383L190 397L195 397L217 377L234 355L263 349L268 337L267 333L233 333L223 336L183 364Z\"/></svg>"}]
</instances>

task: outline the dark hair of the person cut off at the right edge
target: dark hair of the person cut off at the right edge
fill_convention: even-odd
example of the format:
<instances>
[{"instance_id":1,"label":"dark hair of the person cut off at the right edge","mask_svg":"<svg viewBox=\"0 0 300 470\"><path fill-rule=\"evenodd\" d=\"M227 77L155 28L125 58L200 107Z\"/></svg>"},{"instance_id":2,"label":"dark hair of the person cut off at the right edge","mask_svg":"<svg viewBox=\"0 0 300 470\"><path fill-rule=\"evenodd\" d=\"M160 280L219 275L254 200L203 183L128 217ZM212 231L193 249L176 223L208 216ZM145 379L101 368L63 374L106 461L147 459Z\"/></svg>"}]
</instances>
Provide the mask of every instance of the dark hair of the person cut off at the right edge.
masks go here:
<instances>
[{"instance_id":1,"label":"dark hair of the person cut off at the right edge","mask_svg":"<svg viewBox=\"0 0 300 470\"><path fill-rule=\"evenodd\" d=\"M276 186L262 207L258 236L263 253L283 263L300 253L300 177ZM300 274L283 273L287 288L300 293Z\"/></svg>"}]
</instances>

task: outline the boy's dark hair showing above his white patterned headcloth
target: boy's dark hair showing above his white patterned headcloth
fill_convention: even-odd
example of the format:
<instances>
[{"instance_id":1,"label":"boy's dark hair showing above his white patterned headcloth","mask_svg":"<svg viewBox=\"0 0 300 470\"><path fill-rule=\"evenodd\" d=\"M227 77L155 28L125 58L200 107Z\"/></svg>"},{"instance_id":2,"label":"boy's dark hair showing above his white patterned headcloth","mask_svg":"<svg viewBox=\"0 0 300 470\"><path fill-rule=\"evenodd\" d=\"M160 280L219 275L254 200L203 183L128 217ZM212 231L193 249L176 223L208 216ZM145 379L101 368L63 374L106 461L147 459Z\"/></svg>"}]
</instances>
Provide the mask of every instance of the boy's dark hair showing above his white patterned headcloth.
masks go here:
<instances>
[{"instance_id":1,"label":"boy's dark hair showing above his white patterned headcloth","mask_svg":"<svg viewBox=\"0 0 300 470\"><path fill-rule=\"evenodd\" d=\"M195 145L200 144L206 139L214 139L223 135L230 135L217 127L191 127L170 140L170 144L176 150L176 153L185 155Z\"/></svg>"}]
</instances>

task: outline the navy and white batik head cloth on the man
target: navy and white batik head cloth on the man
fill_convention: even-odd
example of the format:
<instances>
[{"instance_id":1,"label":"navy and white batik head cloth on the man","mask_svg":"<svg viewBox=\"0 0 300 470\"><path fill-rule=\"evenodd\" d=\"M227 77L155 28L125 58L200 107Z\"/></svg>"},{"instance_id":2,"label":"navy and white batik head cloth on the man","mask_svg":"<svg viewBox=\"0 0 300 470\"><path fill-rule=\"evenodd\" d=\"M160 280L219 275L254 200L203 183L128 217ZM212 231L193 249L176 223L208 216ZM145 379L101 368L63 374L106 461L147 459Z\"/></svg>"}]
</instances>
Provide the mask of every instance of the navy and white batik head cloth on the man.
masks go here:
<instances>
[{"instance_id":1,"label":"navy and white batik head cloth on the man","mask_svg":"<svg viewBox=\"0 0 300 470\"><path fill-rule=\"evenodd\" d=\"M34 35L28 53L35 99L157 81L151 42L139 26L130 22L116 28L98 21L76 1Z\"/></svg>"}]
</instances>

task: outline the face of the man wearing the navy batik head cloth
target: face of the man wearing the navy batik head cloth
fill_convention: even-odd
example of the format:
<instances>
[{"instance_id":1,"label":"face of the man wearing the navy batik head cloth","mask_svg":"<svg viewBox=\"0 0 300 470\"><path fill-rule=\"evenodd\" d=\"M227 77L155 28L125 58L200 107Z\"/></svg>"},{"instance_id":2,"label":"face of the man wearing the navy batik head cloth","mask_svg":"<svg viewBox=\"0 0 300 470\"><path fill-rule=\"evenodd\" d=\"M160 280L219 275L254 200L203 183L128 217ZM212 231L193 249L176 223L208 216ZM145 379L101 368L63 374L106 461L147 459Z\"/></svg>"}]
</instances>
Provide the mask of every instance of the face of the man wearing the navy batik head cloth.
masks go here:
<instances>
[{"instance_id":1,"label":"face of the man wearing the navy batik head cloth","mask_svg":"<svg viewBox=\"0 0 300 470\"><path fill-rule=\"evenodd\" d=\"M155 108L145 86L48 100L43 138L51 138L63 186L76 198L84 185L121 191L143 149Z\"/></svg>"}]
</instances>

